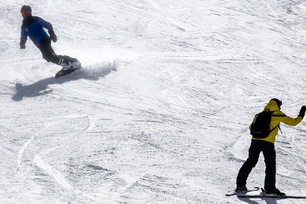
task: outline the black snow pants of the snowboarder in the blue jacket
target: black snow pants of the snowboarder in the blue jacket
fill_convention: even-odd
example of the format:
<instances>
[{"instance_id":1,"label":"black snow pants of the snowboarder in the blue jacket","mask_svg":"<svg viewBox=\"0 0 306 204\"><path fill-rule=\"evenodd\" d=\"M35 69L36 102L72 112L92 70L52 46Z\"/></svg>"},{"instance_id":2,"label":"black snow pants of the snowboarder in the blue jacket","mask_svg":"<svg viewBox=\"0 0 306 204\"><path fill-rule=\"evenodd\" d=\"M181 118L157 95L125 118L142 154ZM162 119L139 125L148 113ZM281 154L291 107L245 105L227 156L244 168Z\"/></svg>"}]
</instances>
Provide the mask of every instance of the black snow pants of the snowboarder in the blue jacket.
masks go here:
<instances>
[{"instance_id":1,"label":"black snow pants of the snowboarder in the blue jacket","mask_svg":"<svg viewBox=\"0 0 306 204\"><path fill-rule=\"evenodd\" d=\"M76 62L77 59L71 58L67 55L57 55L51 47L51 39L46 38L40 41L38 49L41 51L43 58L47 62L52 62L59 65L61 59L67 60L69 62Z\"/></svg>"}]
</instances>

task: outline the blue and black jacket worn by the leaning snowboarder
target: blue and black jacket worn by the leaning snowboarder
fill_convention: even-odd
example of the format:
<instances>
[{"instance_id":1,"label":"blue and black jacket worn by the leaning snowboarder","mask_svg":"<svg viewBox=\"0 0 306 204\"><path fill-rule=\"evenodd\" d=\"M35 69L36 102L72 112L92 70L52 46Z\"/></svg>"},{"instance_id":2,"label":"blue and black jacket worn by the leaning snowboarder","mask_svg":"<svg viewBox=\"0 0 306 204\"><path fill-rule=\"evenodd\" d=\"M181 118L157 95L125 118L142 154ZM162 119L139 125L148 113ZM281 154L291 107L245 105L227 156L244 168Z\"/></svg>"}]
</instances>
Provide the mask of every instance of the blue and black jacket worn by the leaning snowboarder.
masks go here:
<instances>
[{"instance_id":1,"label":"blue and black jacket worn by the leaning snowboarder","mask_svg":"<svg viewBox=\"0 0 306 204\"><path fill-rule=\"evenodd\" d=\"M38 47L41 40L49 38L44 28L49 31L53 30L51 23L40 17L30 17L27 20L23 20L20 41L26 43L29 36L34 45Z\"/></svg>"}]
</instances>

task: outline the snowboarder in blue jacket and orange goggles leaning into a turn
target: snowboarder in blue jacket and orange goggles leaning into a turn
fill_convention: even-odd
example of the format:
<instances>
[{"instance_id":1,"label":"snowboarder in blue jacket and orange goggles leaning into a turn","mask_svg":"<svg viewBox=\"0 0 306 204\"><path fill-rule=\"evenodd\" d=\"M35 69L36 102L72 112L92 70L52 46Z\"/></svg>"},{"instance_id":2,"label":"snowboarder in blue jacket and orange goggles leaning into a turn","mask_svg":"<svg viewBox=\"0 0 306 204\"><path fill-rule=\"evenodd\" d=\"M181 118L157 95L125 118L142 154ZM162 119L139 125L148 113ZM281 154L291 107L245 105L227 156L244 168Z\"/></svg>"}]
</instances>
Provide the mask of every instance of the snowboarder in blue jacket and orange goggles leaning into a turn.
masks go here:
<instances>
[{"instance_id":1,"label":"snowboarder in blue jacket and orange goggles leaning into a turn","mask_svg":"<svg viewBox=\"0 0 306 204\"><path fill-rule=\"evenodd\" d=\"M45 21L40 17L33 17L32 8L29 5L23 5L20 12L23 17L20 49L25 49L25 43L29 36L34 45L41 51L43 58L48 62L62 66L62 70L81 67L80 61L76 58L55 54L51 47L51 40L56 42L57 37L50 22ZM48 30L50 37L45 32L44 28Z\"/></svg>"}]
</instances>

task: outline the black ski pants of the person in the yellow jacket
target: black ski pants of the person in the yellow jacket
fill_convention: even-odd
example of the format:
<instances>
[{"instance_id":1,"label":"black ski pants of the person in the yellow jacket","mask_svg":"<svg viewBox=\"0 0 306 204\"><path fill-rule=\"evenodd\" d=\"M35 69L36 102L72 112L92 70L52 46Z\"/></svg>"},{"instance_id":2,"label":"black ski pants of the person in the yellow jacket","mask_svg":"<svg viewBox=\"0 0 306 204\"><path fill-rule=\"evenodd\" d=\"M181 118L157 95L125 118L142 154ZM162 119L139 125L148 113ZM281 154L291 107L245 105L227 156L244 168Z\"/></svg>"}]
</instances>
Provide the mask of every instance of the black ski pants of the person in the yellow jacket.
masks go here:
<instances>
[{"instance_id":1,"label":"black ski pants of the person in the yellow jacket","mask_svg":"<svg viewBox=\"0 0 306 204\"><path fill-rule=\"evenodd\" d=\"M251 170L256 166L259 154L263 153L266 164L265 188L275 188L276 158L272 142L252 139L249 149L249 158L244 162L237 176L237 184L246 185Z\"/></svg>"}]
</instances>

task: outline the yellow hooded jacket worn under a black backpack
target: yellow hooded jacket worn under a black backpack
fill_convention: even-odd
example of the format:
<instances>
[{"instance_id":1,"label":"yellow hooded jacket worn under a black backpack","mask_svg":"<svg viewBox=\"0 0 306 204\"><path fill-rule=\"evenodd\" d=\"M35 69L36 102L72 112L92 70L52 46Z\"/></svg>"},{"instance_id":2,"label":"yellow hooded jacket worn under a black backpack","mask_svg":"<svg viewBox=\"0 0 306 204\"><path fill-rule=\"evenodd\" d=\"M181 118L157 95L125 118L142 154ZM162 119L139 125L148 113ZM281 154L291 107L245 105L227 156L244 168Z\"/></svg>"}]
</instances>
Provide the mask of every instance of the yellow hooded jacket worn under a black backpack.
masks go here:
<instances>
[{"instance_id":1,"label":"yellow hooded jacket worn under a black backpack","mask_svg":"<svg viewBox=\"0 0 306 204\"><path fill-rule=\"evenodd\" d=\"M286 116L282 111L279 110L277 103L275 101L270 101L268 102L268 104L266 105L266 107L264 108L264 110L269 109L270 111L274 111L272 113L272 117L271 117L271 123L270 123L270 130L272 130L275 126L278 126L278 124L280 122L283 122L287 125L291 125L291 126L295 126L297 124L299 124L302 121L302 117L298 116L297 118L293 119L290 118L289 116ZM255 120L257 118L257 115L255 116L255 118L253 119L252 123L255 123ZM252 125L252 124L251 124ZM249 129L251 130L251 125L249 127ZM266 138L262 138L260 140L265 140L268 142L272 142L274 144L275 142L275 136L278 133L278 127L276 127L270 134L269 136L267 136ZM252 137L252 139L258 139L258 138L254 138Z\"/></svg>"}]
</instances>

